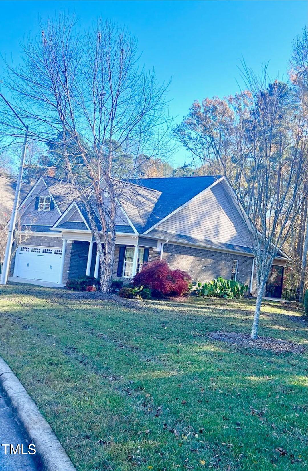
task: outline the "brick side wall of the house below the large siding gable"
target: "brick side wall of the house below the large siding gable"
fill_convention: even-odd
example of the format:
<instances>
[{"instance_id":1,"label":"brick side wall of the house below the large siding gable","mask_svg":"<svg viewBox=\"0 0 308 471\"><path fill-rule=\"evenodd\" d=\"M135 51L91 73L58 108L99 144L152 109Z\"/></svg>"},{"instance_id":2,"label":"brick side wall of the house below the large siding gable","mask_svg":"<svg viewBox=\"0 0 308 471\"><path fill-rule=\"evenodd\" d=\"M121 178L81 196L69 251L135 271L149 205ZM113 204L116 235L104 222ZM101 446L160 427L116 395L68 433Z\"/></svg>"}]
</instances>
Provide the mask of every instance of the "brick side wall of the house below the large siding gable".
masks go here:
<instances>
[{"instance_id":1,"label":"brick side wall of the house below the large siding gable","mask_svg":"<svg viewBox=\"0 0 308 471\"><path fill-rule=\"evenodd\" d=\"M187 271L193 281L199 280L202 282L211 281L218 276L230 279L233 260L238 260L237 281L250 287L252 257L166 244L163 259L167 261L170 268L180 268Z\"/></svg>"}]
</instances>

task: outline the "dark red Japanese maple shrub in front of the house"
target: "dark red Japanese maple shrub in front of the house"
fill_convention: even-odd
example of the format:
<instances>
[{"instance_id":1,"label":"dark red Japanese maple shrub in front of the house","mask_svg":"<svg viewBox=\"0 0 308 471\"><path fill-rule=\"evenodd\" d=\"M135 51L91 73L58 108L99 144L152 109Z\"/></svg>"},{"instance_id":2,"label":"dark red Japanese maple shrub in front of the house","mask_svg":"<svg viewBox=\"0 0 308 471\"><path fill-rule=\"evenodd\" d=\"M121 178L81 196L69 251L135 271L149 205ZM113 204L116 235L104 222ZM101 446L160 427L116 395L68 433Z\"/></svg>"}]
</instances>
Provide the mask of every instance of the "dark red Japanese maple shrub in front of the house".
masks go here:
<instances>
[{"instance_id":1,"label":"dark red Japanese maple shrub in front of the house","mask_svg":"<svg viewBox=\"0 0 308 471\"><path fill-rule=\"evenodd\" d=\"M171 270L165 260L156 260L144 265L134 277L134 286L150 288L152 295L183 296L188 292L191 278L182 270Z\"/></svg>"}]
</instances>

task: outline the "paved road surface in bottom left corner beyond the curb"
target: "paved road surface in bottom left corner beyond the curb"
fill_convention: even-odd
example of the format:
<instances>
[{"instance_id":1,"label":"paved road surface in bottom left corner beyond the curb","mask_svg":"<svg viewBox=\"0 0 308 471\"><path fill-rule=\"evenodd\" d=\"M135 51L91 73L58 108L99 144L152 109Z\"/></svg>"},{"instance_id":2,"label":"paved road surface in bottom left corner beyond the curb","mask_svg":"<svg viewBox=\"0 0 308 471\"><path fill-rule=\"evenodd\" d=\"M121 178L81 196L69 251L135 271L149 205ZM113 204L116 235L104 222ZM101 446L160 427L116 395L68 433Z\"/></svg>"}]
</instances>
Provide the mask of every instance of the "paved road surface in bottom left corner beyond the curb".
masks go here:
<instances>
[{"instance_id":1,"label":"paved road surface in bottom left corner beyond the curb","mask_svg":"<svg viewBox=\"0 0 308 471\"><path fill-rule=\"evenodd\" d=\"M0 471L39 471L32 455L5 455L4 447L1 447L4 443L12 444L14 447L23 444L24 452L28 451L28 441L24 438L0 389Z\"/></svg>"}]
</instances>

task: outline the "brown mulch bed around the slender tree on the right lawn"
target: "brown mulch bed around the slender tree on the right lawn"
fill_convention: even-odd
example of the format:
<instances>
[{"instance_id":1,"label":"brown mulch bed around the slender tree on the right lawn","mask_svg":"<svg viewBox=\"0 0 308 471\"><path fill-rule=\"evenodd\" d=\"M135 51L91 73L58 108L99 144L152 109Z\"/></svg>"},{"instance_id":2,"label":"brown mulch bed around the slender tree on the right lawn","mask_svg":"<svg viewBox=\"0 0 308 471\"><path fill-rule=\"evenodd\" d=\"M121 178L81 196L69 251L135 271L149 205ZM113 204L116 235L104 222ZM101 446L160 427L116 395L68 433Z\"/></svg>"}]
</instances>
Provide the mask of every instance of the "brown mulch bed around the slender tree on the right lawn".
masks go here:
<instances>
[{"instance_id":1,"label":"brown mulch bed around the slender tree on the right lawn","mask_svg":"<svg viewBox=\"0 0 308 471\"><path fill-rule=\"evenodd\" d=\"M229 342L240 347L270 350L275 353L303 353L305 351L302 345L286 340L273 339L272 337L258 337L252 340L250 335L238 332L212 332L209 334L211 340Z\"/></svg>"}]
</instances>

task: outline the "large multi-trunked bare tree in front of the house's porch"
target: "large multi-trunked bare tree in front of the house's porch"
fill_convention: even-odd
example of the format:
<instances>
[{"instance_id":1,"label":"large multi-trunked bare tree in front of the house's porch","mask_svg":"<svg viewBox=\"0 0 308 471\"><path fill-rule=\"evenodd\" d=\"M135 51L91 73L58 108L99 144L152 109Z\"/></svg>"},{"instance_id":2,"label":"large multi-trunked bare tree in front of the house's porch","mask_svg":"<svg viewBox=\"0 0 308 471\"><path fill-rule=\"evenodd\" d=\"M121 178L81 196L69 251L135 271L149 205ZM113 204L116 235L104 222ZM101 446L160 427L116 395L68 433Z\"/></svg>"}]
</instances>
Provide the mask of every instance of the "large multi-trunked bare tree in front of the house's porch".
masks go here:
<instances>
[{"instance_id":1,"label":"large multi-trunked bare tree in front of the house's porch","mask_svg":"<svg viewBox=\"0 0 308 471\"><path fill-rule=\"evenodd\" d=\"M29 139L56 147L76 199L86 209L110 290L119 200L144 159L166 158L167 86L138 65L134 36L115 24L80 33L60 16L22 46L23 62L7 64L4 86L29 125ZM6 135L18 135L13 117ZM95 211L99 219L97 222Z\"/></svg>"}]
</instances>

